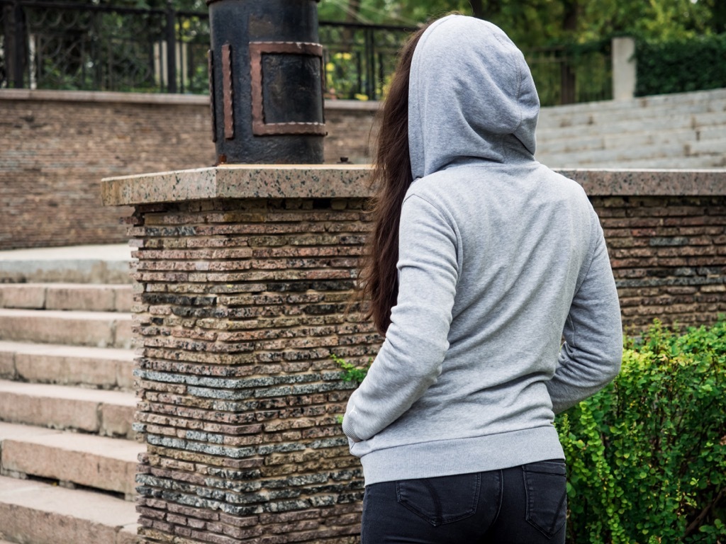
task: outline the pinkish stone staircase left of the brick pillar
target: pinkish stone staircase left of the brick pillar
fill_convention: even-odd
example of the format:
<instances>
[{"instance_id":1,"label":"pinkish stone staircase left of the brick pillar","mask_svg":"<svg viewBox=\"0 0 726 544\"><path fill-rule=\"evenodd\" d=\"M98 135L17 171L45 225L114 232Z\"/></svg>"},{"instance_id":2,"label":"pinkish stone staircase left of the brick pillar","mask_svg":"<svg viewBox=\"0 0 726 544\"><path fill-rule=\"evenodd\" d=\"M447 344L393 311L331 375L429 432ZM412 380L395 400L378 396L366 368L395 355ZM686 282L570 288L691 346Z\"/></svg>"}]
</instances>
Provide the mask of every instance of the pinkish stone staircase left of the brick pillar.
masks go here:
<instances>
[{"instance_id":1,"label":"pinkish stone staircase left of the brick pillar","mask_svg":"<svg viewBox=\"0 0 726 544\"><path fill-rule=\"evenodd\" d=\"M129 260L0 252L0 544L136 542Z\"/></svg>"}]
</instances>

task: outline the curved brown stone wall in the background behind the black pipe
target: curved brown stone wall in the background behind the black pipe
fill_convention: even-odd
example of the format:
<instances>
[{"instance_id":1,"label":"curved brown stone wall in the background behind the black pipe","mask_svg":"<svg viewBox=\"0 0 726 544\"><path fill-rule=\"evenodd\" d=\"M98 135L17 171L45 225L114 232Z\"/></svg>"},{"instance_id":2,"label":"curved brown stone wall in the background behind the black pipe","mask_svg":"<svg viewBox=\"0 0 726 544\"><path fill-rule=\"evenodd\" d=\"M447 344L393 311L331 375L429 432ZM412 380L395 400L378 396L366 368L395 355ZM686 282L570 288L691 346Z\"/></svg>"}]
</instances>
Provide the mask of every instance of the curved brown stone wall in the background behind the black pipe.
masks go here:
<instances>
[{"instance_id":1,"label":"curved brown stone wall in the background behind the black pipe","mask_svg":"<svg viewBox=\"0 0 726 544\"><path fill-rule=\"evenodd\" d=\"M326 162L367 161L376 108L327 102ZM0 89L0 250L125 242L102 178L215 161L206 96Z\"/></svg>"}]
</instances>

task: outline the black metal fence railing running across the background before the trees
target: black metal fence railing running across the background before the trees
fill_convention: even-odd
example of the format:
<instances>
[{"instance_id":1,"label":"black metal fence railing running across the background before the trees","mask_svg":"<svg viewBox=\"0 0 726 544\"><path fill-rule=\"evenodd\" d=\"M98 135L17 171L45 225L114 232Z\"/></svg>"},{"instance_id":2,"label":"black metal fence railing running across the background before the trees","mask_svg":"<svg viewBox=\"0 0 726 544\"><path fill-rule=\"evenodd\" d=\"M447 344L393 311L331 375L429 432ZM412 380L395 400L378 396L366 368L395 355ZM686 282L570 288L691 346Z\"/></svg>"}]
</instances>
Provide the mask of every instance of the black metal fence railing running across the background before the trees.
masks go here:
<instances>
[{"instance_id":1,"label":"black metal fence railing running across the background before the trees","mask_svg":"<svg viewBox=\"0 0 726 544\"><path fill-rule=\"evenodd\" d=\"M410 30L321 21L325 95L382 98ZM207 13L0 0L0 88L204 94L209 42ZM608 55L526 54L542 104L609 98Z\"/></svg>"}]
</instances>

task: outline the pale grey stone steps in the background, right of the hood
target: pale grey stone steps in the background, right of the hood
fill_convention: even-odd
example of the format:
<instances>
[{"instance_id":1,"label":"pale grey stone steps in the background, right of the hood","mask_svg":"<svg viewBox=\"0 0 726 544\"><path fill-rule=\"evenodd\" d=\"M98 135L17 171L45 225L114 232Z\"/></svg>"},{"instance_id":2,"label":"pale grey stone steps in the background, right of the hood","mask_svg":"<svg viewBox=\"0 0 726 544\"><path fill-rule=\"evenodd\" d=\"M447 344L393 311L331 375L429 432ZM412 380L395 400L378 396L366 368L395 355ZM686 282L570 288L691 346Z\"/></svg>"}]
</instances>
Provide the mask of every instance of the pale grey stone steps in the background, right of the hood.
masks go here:
<instances>
[{"instance_id":1,"label":"pale grey stone steps in the background, right of the hood","mask_svg":"<svg viewBox=\"0 0 726 544\"><path fill-rule=\"evenodd\" d=\"M723 168L726 89L542 108L550 168Z\"/></svg>"}]
</instances>

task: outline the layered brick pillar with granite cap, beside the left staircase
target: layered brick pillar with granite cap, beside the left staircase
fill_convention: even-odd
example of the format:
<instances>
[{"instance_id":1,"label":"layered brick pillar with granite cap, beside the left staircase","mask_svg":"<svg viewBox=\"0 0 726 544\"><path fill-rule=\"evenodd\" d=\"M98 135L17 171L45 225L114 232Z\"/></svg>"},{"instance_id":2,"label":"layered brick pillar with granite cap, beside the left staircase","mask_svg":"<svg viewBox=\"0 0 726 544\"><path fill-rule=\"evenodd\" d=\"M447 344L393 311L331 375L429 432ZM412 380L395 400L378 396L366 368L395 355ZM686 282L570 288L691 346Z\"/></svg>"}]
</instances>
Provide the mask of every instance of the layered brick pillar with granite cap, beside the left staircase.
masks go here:
<instances>
[{"instance_id":1,"label":"layered brick pillar with granite cap, beside the left staircase","mask_svg":"<svg viewBox=\"0 0 726 544\"><path fill-rule=\"evenodd\" d=\"M354 543L362 472L330 358L378 348L346 313L362 167L221 167L104 182L134 205L136 431L146 543Z\"/></svg>"}]
</instances>

